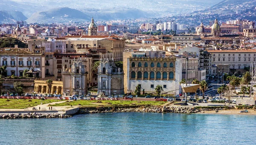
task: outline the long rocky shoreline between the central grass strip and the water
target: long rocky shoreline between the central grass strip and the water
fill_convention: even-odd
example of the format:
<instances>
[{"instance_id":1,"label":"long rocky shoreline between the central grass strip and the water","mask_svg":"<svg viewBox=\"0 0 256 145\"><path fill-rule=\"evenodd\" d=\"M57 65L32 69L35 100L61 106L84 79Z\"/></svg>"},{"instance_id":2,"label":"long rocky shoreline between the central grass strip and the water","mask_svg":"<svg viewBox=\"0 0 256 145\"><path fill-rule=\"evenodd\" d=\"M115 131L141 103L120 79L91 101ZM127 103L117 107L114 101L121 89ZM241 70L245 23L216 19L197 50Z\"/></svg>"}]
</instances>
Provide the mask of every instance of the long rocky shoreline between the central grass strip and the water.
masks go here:
<instances>
[{"instance_id":1,"label":"long rocky shoreline between the central grass strip and the water","mask_svg":"<svg viewBox=\"0 0 256 145\"><path fill-rule=\"evenodd\" d=\"M183 113L192 114L200 112L195 107L174 106L119 106L119 107L81 107L79 114L85 113L117 113L117 112L151 112L151 113Z\"/></svg>"}]
</instances>

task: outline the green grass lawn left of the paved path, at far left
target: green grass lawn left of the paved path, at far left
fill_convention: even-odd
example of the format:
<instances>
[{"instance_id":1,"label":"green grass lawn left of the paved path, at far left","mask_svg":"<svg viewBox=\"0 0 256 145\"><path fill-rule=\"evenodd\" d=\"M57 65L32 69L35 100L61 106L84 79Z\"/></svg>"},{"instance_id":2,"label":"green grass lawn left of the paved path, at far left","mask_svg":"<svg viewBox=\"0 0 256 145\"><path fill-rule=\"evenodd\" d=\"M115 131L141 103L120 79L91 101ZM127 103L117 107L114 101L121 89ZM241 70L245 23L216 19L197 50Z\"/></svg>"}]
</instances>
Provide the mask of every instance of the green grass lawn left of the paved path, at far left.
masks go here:
<instances>
[{"instance_id":1,"label":"green grass lawn left of the paved path, at far left","mask_svg":"<svg viewBox=\"0 0 256 145\"><path fill-rule=\"evenodd\" d=\"M10 100L10 101L7 101ZM28 107L32 107L35 105L40 105L41 102L43 104L50 103L50 102L58 102L60 100L39 100L39 99L0 99L0 109L24 109Z\"/></svg>"}]
</instances>

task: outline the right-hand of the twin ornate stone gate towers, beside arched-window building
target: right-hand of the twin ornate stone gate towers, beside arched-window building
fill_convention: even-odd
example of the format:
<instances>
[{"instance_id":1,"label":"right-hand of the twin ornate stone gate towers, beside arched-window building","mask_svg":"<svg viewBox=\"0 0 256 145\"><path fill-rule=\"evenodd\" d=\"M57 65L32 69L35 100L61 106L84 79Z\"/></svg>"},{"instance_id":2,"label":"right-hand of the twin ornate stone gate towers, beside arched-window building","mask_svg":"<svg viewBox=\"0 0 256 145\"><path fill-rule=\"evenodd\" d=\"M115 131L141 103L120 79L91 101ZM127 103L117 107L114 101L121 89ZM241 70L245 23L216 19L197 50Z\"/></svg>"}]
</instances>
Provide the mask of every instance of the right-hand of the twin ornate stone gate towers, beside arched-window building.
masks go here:
<instances>
[{"instance_id":1,"label":"right-hand of the twin ornate stone gate towers, beside arched-window building","mask_svg":"<svg viewBox=\"0 0 256 145\"><path fill-rule=\"evenodd\" d=\"M124 73L114 60L100 59L98 67L98 95L111 96L124 93Z\"/></svg>"}]
</instances>

